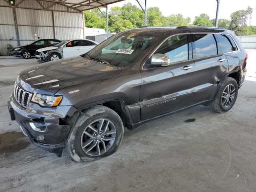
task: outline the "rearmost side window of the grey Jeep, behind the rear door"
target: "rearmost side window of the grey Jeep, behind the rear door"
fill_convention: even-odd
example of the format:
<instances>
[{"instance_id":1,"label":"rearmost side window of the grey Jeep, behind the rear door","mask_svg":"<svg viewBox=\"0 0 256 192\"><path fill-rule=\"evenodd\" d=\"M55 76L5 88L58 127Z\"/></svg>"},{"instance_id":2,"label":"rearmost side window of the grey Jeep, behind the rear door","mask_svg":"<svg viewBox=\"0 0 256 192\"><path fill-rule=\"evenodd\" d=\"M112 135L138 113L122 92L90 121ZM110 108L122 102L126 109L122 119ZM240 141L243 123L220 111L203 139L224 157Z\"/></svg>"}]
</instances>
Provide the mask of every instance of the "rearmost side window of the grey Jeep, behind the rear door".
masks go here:
<instances>
[{"instance_id":1,"label":"rearmost side window of the grey Jeep, behind the rear door","mask_svg":"<svg viewBox=\"0 0 256 192\"><path fill-rule=\"evenodd\" d=\"M234 40L226 34L216 34L222 53L232 52L237 50Z\"/></svg>"}]
</instances>

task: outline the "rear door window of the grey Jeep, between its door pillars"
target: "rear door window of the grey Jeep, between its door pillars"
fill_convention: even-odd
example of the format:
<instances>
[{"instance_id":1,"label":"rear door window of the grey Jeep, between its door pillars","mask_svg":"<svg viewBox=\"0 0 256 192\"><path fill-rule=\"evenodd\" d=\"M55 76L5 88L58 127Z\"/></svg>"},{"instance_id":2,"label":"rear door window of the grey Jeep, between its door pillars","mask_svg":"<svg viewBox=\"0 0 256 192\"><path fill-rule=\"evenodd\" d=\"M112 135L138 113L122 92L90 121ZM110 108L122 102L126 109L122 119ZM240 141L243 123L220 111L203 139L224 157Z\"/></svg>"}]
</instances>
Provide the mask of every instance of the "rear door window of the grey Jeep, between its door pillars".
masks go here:
<instances>
[{"instance_id":1,"label":"rear door window of the grey Jeep, between its door pillars","mask_svg":"<svg viewBox=\"0 0 256 192\"><path fill-rule=\"evenodd\" d=\"M218 54L217 44L213 34L194 34L196 58Z\"/></svg>"}]
</instances>

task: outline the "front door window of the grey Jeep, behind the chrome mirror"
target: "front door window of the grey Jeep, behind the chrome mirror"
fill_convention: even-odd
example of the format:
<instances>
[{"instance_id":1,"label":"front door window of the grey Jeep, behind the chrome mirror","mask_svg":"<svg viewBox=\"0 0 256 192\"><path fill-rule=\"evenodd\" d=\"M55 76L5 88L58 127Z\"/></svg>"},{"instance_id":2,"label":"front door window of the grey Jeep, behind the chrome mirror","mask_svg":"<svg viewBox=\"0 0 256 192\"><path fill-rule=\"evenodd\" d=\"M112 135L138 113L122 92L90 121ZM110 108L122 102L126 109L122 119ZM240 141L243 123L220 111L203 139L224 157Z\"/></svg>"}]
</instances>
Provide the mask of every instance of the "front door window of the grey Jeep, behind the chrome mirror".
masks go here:
<instances>
[{"instance_id":1,"label":"front door window of the grey Jeep, behind the chrome mirror","mask_svg":"<svg viewBox=\"0 0 256 192\"><path fill-rule=\"evenodd\" d=\"M156 50L155 53L166 54L170 62L188 60L188 37L187 35L175 35L168 38Z\"/></svg>"}]
</instances>

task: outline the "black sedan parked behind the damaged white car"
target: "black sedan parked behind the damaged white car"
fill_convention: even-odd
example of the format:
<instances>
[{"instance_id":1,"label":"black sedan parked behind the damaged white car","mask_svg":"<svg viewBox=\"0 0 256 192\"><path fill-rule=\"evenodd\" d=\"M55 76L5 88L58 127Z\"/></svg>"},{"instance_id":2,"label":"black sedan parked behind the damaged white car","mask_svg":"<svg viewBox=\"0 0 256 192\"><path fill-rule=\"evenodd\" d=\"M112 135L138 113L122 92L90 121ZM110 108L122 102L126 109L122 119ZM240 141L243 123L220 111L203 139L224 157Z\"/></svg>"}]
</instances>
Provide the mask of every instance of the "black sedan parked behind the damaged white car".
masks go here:
<instances>
[{"instance_id":1,"label":"black sedan parked behind the damaged white car","mask_svg":"<svg viewBox=\"0 0 256 192\"><path fill-rule=\"evenodd\" d=\"M32 56L35 56L36 50L44 47L54 46L60 42L61 41L57 39L39 39L31 44L15 47L12 54L16 57L22 56L25 59L29 59Z\"/></svg>"}]
</instances>

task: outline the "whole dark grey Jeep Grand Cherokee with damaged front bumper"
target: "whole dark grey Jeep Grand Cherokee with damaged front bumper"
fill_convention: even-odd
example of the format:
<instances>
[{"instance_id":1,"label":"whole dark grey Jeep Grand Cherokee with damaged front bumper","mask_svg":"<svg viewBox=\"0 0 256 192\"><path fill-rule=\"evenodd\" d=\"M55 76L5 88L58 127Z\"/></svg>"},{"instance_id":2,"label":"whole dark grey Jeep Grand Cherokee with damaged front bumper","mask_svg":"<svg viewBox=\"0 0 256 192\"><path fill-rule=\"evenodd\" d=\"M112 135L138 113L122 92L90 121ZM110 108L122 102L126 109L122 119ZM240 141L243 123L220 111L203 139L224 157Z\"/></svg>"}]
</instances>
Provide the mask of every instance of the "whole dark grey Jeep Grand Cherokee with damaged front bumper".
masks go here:
<instances>
[{"instance_id":1,"label":"whole dark grey Jeep Grand Cherokee with damaged front bumper","mask_svg":"<svg viewBox=\"0 0 256 192\"><path fill-rule=\"evenodd\" d=\"M36 146L102 158L118 149L124 126L197 105L230 110L247 56L223 28L126 30L84 55L22 71L8 107Z\"/></svg>"}]
</instances>

